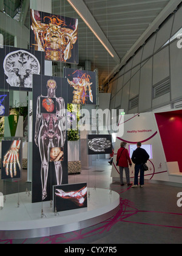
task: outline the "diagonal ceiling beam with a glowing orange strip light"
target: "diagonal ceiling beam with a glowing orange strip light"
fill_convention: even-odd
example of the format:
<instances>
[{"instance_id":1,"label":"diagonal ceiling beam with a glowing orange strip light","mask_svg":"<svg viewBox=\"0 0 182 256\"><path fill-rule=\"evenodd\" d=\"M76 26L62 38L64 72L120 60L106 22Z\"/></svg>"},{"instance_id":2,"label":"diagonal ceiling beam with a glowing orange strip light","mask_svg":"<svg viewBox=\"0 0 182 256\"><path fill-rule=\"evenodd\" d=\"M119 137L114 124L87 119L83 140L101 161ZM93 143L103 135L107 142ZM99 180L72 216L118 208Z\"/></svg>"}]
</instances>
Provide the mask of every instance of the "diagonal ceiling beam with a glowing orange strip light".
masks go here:
<instances>
[{"instance_id":1,"label":"diagonal ceiling beam with a glowing orange strip light","mask_svg":"<svg viewBox=\"0 0 182 256\"><path fill-rule=\"evenodd\" d=\"M112 45L110 44L109 40L107 39L106 35L103 33L103 30L101 27L99 27L98 23L96 22L95 18L93 17L92 13L88 9L87 5L84 3L83 0L67 0L70 5L72 5L73 9L78 10L78 15L82 18L82 20L87 24L89 29L93 32L93 34L97 35L96 37L98 40L102 43L104 43L105 48L107 48L107 51L110 53L110 55L113 56L113 60L117 64L121 62L120 57L115 52L115 49L113 49ZM75 8L74 8L75 7ZM102 43L102 44L103 44Z\"/></svg>"}]
</instances>

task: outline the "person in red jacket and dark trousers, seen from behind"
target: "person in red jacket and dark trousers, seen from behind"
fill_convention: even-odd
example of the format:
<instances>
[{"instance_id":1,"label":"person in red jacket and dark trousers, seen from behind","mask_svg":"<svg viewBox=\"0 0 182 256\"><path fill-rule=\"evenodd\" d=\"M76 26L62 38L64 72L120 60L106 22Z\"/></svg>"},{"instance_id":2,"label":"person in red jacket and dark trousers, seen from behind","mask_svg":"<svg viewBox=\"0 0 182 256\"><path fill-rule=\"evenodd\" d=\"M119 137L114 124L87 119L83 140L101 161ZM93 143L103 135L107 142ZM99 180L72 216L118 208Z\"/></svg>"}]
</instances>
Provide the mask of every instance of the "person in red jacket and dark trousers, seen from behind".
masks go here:
<instances>
[{"instance_id":1,"label":"person in red jacket and dark trousers, seen from behind","mask_svg":"<svg viewBox=\"0 0 182 256\"><path fill-rule=\"evenodd\" d=\"M117 157L116 157L116 162L118 162L118 166L120 167L120 181L121 181L121 186L124 185L123 183L123 169L126 173L126 182L127 185L132 185L130 183L130 171L129 171L129 165L132 166L132 161L129 157L129 152L126 149L126 142L121 142L121 148L118 149L117 152Z\"/></svg>"}]
</instances>

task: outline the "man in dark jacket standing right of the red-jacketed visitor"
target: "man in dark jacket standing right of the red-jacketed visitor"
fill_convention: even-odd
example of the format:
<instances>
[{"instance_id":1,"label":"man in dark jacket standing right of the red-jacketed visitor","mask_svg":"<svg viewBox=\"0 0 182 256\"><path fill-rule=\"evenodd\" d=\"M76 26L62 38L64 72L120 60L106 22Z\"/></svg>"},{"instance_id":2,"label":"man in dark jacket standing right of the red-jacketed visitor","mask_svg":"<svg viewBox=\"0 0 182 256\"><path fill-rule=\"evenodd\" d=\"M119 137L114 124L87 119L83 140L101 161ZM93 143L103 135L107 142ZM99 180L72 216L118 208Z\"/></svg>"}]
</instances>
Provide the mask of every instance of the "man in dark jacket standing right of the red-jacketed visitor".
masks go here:
<instances>
[{"instance_id":1,"label":"man in dark jacket standing right of the red-jacketed visitor","mask_svg":"<svg viewBox=\"0 0 182 256\"><path fill-rule=\"evenodd\" d=\"M140 187L142 188L144 185L144 169L143 163L146 163L149 160L149 154L145 149L141 148L141 142L136 144L137 148L133 151L132 154L132 162L135 163L135 181L132 188L138 187L138 174L140 172Z\"/></svg>"}]
</instances>

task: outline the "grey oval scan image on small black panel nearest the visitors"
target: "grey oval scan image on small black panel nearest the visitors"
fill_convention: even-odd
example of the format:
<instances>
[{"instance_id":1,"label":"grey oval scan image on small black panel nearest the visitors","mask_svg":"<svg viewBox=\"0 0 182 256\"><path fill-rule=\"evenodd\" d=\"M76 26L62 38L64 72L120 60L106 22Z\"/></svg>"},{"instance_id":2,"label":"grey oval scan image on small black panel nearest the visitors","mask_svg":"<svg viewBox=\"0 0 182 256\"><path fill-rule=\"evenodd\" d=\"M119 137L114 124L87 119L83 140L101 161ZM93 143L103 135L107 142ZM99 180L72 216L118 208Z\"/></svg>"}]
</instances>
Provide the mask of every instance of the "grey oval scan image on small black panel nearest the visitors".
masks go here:
<instances>
[{"instance_id":1,"label":"grey oval scan image on small black panel nearest the visitors","mask_svg":"<svg viewBox=\"0 0 182 256\"><path fill-rule=\"evenodd\" d=\"M107 138L93 138L88 141L89 149L93 152L105 152L106 149L109 149L112 145L110 140Z\"/></svg>"}]
</instances>

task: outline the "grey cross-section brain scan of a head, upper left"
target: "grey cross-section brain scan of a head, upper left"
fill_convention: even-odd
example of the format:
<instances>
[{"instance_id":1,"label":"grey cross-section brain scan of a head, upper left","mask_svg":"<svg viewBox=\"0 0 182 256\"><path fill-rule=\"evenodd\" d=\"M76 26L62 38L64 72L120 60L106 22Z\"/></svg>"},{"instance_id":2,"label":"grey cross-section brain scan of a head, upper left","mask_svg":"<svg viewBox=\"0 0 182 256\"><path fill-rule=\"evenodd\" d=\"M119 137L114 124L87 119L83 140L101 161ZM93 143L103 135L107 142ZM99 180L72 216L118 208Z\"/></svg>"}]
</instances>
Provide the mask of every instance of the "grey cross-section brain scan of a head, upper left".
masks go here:
<instances>
[{"instance_id":1,"label":"grey cross-section brain scan of a head, upper left","mask_svg":"<svg viewBox=\"0 0 182 256\"><path fill-rule=\"evenodd\" d=\"M11 87L32 88L33 74L40 74L41 66L30 52L18 50L10 52L4 59L4 73Z\"/></svg>"}]
</instances>

